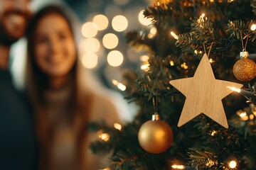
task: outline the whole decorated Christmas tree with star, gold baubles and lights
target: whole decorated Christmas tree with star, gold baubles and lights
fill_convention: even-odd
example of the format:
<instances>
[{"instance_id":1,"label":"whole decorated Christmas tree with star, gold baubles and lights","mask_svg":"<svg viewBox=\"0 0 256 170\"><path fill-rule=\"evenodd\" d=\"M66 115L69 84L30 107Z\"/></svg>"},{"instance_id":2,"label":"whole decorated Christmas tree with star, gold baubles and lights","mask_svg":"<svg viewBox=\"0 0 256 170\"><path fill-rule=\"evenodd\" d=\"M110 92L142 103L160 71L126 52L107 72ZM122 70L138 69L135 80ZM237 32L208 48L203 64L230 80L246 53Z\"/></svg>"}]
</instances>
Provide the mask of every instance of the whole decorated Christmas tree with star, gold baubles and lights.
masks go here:
<instances>
[{"instance_id":1,"label":"whole decorated Christmas tree with star, gold baubles and lights","mask_svg":"<svg viewBox=\"0 0 256 170\"><path fill-rule=\"evenodd\" d=\"M124 73L139 112L93 124L110 138L92 151L111 151L110 169L256 169L256 1L155 1L144 16L127 43L146 67Z\"/></svg>"}]
</instances>

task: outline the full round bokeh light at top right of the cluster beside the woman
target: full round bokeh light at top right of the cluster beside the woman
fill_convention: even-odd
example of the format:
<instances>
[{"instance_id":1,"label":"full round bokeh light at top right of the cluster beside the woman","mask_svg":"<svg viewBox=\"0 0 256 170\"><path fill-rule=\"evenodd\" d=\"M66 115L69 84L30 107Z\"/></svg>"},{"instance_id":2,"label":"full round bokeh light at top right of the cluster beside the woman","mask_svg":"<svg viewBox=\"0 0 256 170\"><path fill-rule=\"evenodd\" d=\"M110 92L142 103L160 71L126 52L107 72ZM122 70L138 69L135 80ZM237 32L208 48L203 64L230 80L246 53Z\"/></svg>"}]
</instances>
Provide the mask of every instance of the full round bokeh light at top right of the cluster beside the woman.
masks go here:
<instances>
[{"instance_id":1,"label":"full round bokeh light at top right of the cluster beside the woman","mask_svg":"<svg viewBox=\"0 0 256 170\"><path fill-rule=\"evenodd\" d=\"M122 32L127 29L128 20L125 16L114 16L112 19L112 28L118 32Z\"/></svg>"}]
</instances>

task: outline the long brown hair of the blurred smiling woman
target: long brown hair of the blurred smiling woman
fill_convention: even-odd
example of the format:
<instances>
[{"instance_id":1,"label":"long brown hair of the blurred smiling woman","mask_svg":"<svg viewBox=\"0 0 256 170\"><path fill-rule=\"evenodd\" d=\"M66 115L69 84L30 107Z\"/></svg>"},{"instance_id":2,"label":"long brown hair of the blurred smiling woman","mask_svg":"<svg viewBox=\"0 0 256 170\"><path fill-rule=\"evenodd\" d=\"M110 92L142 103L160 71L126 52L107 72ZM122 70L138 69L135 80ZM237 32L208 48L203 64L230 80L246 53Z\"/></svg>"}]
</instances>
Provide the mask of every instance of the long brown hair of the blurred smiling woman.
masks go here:
<instances>
[{"instance_id":1,"label":"long brown hair of the blurred smiling woman","mask_svg":"<svg viewBox=\"0 0 256 170\"><path fill-rule=\"evenodd\" d=\"M27 44L27 65L26 65L26 91L28 93L28 97L31 100L31 104L34 108L35 118L36 118L36 127L37 127L37 135L38 142L40 148L40 154L42 157L47 157L47 150L50 149L50 135L53 135L54 127L50 126L48 123L48 118L46 114L43 113L43 107L46 105L47 101L44 97L45 92L48 89L48 77L47 75L41 71L41 69L36 64L36 56L35 56L35 38L36 38L36 27L38 26L39 21L45 16L57 14L63 17L68 23L68 27L73 35L74 42L75 36L73 33L73 27L71 26L70 18L66 15L63 10L63 6L50 5L41 8L38 13L31 19L28 24L28 29L26 32L26 37L28 40ZM69 117L71 123L76 123L76 133L77 133L77 146L80 147L82 145L82 141L85 138L85 131L88 119L88 112L90 110L90 102L92 101L90 98L90 94L87 94L86 97L80 95L80 89L78 84L78 50L76 51L77 62L73 65L70 70L70 79L68 80L72 84L72 96L70 97L70 112ZM79 93L78 93L79 92ZM90 100L89 100L90 98ZM78 114L80 113L80 115ZM78 150L82 150L78 148ZM79 154L79 153L78 153ZM41 164L46 164L46 162L41 162Z\"/></svg>"}]
</instances>

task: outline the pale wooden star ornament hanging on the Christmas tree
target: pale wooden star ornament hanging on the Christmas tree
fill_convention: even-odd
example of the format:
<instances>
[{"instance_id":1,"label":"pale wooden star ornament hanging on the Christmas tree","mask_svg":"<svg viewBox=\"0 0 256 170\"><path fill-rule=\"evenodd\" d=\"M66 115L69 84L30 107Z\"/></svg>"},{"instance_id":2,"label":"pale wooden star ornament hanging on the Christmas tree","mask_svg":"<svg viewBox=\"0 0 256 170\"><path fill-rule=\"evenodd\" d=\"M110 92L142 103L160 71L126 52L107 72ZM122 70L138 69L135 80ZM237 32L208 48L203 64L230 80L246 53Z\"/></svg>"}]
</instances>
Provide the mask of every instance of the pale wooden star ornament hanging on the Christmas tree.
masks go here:
<instances>
[{"instance_id":1,"label":"pale wooden star ornament hanging on the Christmas tree","mask_svg":"<svg viewBox=\"0 0 256 170\"><path fill-rule=\"evenodd\" d=\"M193 77L171 80L169 83L186 96L178 127L204 113L215 122L228 128L221 100L233 92L229 88L230 86L240 89L242 84L215 79L206 54L203 55Z\"/></svg>"}]
</instances>

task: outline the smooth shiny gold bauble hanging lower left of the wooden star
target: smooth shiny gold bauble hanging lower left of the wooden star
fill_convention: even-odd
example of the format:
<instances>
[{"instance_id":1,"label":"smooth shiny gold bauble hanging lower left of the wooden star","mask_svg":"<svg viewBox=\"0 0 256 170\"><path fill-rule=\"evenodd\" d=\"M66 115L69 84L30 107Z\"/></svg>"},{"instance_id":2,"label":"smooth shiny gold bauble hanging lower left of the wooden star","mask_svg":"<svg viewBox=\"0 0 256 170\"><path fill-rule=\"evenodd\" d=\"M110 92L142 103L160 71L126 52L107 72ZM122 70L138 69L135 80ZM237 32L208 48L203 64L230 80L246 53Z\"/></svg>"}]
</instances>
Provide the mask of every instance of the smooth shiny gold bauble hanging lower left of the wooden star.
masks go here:
<instances>
[{"instance_id":1,"label":"smooth shiny gold bauble hanging lower left of the wooden star","mask_svg":"<svg viewBox=\"0 0 256 170\"><path fill-rule=\"evenodd\" d=\"M139 129L139 145L151 154L159 154L171 147L173 132L163 120L149 120Z\"/></svg>"}]
</instances>

